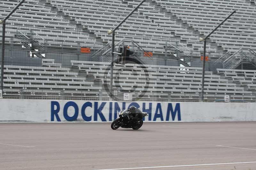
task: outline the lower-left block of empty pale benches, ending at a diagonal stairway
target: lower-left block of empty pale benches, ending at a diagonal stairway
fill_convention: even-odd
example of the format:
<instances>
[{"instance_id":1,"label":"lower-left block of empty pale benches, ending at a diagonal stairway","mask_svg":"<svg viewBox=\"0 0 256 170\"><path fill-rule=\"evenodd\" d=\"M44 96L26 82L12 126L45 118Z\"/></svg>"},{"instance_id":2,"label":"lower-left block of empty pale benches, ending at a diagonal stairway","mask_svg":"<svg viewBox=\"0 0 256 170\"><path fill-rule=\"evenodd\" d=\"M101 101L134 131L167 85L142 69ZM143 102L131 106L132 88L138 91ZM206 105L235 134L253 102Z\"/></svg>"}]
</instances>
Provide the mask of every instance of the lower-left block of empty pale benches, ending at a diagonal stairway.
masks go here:
<instances>
[{"instance_id":1,"label":"lower-left block of empty pale benches, ending at a diagonal stairway","mask_svg":"<svg viewBox=\"0 0 256 170\"><path fill-rule=\"evenodd\" d=\"M46 63L51 62L51 63ZM76 97L97 97L101 87L94 86L78 73L62 68L51 59L43 59L43 67L4 66L4 93L6 96L19 97L26 92L24 98L52 99L62 96L76 99ZM51 98L52 97L52 98Z\"/></svg>"}]
</instances>

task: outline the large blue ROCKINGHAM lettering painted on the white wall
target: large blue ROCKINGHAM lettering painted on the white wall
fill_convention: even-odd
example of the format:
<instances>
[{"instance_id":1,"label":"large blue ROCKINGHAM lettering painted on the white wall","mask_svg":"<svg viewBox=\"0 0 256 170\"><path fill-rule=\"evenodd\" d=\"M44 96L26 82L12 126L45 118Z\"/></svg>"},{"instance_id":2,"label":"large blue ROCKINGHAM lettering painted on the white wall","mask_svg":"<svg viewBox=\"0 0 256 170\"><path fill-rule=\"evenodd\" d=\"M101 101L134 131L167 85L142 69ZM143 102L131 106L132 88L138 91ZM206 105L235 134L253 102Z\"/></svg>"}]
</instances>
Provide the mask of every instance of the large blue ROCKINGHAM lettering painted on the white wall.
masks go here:
<instances>
[{"instance_id":1,"label":"large blue ROCKINGHAM lettering painted on the white wall","mask_svg":"<svg viewBox=\"0 0 256 170\"><path fill-rule=\"evenodd\" d=\"M143 102L142 104L139 104L136 102L118 103L98 101L87 101L82 105L80 102L77 104L74 101L68 101L63 106L61 106L58 101L51 101L51 121L56 120L61 122L60 117L64 118L66 121L76 121L79 114L81 114L81 117L85 122L113 121L113 117L114 120L118 118L118 112L120 110L129 108L130 106L135 106L142 112L147 112L148 116L146 117L146 121L175 121L176 117L176 120L181 121L180 103ZM68 108L72 108L72 113L68 113L68 110L70 110ZM63 116L61 114L63 114ZM170 115L172 117L171 119ZM145 120L145 118L143 120Z\"/></svg>"}]
</instances>

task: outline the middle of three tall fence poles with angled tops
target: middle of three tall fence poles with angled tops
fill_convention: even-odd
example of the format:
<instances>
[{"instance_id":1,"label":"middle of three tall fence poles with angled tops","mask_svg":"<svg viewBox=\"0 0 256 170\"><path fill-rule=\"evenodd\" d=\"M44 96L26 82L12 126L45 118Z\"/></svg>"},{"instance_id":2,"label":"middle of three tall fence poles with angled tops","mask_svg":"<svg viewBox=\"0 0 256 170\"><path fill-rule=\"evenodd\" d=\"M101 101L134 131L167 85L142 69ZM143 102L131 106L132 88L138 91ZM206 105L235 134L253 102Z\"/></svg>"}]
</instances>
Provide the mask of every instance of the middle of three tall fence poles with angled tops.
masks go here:
<instances>
[{"instance_id":1,"label":"middle of three tall fence poles with angled tops","mask_svg":"<svg viewBox=\"0 0 256 170\"><path fill-rule=\"evenodd\" d=\"M111 52L111 69L110 69L110 94L112 97L113 95L113 70L114 70L114 55L115 55L115 31L116 29L119 28L119 26L121 26L127 18L129 18L134 11L136 11L140 5L142 5L146 0L143 0L140 2L140 4L138 4L113 30L108 30L108 34L111 34L112 33L112 52Z\"/></svg>"}]
</instances>

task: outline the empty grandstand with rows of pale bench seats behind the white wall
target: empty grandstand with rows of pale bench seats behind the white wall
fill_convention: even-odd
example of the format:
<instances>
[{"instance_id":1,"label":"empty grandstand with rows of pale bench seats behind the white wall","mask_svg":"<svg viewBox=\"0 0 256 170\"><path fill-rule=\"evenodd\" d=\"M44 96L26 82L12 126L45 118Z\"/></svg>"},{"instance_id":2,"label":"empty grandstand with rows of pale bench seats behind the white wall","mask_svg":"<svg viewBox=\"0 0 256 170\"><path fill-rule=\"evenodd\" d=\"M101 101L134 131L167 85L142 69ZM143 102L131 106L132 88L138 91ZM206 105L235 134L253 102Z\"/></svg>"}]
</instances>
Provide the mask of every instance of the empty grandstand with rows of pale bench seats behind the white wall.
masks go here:
<instances>
[{"instance_id":1,"label":"empty grandstand with rows of pale bench seats behind the white wall","mask_svg":"<svg viewBox=\"0 0 256 170\"><path fill-rule=\"evenodd\" d=\"M0 0L0 20L18 3ZM4 98L109 100L105 86L110 83L112 35L107 30L139 3L26 0L6 24ZM207 40L204 101L230 95L232 100L254 102L256 6L248 0L147 0L116 31L115 50L129 45L131 57L141 63L114 64L117 95L130 92L133 100L141 101L198 101L204 50L199 37L234 10Z\"/></svg>"}]
</instances>

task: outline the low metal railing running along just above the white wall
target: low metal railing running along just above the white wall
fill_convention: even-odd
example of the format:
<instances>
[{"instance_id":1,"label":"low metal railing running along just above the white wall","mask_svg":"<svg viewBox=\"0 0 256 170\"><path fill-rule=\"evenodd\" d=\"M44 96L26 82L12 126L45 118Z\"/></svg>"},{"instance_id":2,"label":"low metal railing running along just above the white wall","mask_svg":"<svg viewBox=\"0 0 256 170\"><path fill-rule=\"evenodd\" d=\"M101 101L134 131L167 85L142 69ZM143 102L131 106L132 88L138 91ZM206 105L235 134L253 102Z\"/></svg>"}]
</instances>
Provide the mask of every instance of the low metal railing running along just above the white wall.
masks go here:
<instances>
[{"instance_id":1,"label":"low metal railing running along just above the white wall","mask_svg":"<svg viewBox=\"0 0 256 170\"><path fill-rule=\"evenodd\" d=\"M182 91L182 90L181 90ZM122 92L118 91L118 94ZM162 97L160 97L160 95ZM204 102L224 102L224 95L205 94ZM199 102L200 93L163 93L148 92L143 97L132 96L132 101L156 101L156 102ZM33 100L112 100L107 92L88 91L64 91L64 90L28 90L28 89L6 89L3 92L4 99L33 99ZM244 95L230 95L231 102L255 102L256 94L250 97Z\"/></svg>"}]
</instances>

